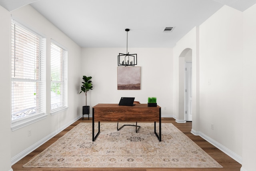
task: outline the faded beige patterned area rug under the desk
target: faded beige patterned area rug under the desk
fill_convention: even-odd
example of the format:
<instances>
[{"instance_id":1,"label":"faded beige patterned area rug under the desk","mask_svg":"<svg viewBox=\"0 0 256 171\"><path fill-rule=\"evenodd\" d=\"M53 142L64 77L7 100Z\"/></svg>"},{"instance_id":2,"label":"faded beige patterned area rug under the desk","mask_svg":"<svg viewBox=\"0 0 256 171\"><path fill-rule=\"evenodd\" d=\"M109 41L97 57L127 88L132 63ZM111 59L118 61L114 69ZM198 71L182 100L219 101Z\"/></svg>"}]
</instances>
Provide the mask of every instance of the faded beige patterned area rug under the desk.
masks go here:
<instances>
[{"instance_id":1,"label":"faded beige patterned area rug under the desk","mask_svg":"<svg viewBox=\"0 0 256 171\"><path fill-rule=\"evenodd\" d=\"M101 122L93 142L92 123L79 123L23 167L222 167L172 123L162 123L161 142L154 123L138 123L138 133L131 126L117 131L116 124Z\"/></svg>"}]
</instances>

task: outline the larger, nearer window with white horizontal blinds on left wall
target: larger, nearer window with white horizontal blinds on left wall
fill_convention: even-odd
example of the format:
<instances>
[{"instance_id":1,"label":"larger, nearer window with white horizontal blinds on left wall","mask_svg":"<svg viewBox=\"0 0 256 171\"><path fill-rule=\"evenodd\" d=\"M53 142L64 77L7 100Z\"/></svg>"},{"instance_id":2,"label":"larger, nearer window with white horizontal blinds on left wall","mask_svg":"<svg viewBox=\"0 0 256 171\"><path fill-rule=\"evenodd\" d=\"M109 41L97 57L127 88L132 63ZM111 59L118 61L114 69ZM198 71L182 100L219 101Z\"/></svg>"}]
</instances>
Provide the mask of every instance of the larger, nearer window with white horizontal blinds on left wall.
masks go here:
<instances>
[{"instance_id":1,"label":"larger, nearer window with white horizontal blinds on left wall","mask_svg":"<svg viewBox=\"0 0 256 171\"><path fill-rule=\"evenodd\" d=\"M12 128L45 115L44 52L45 38L12 20Z\"/></svg>"}]
</instances>

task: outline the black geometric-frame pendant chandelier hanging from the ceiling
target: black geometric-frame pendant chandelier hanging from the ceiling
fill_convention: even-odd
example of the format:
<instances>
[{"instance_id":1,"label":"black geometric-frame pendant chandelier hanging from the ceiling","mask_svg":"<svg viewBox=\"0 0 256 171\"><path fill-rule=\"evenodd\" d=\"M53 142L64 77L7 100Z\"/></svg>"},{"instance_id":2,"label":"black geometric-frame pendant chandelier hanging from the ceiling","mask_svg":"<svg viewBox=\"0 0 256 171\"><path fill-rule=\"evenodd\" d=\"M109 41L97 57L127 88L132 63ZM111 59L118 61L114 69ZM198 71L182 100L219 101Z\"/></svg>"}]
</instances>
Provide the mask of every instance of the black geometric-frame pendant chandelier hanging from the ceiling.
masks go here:
<instances>
[{"instance_id":1,"label":"black geometric-frame pendant chandelier hanging from the ceiling","mask_svg":"<svg viewBox=\"0 0 256 171\"><path fill-rule=\"evenodd\" d=\"M119 53L118 55L118 66L135 66L137 65L137 54L129 54L128 52L128 32L130 29L126 28L127 32L126 38L126 54Z\"/></svg>"}]
</instances>

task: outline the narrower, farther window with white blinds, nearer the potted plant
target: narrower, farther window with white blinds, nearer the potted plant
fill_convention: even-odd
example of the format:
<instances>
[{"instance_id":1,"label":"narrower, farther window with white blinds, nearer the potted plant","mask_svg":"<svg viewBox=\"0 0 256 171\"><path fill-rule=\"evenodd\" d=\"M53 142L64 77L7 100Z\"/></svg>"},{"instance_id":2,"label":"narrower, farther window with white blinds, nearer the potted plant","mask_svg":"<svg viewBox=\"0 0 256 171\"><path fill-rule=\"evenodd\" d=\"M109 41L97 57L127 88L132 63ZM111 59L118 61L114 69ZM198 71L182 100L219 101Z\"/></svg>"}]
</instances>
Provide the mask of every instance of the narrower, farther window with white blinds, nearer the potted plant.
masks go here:
<instances>
[{"instance_id":1,"label":"narrower, farther window with white blinds, nearer the potted plant","mask_svg":"<svg viewBox=\"0 0 256 171\"><path fill-rule=\"evenodd\" d=\"M67 108L68 52L52 40L51 44L51 113Z\"/></svg>"}]
</instances>

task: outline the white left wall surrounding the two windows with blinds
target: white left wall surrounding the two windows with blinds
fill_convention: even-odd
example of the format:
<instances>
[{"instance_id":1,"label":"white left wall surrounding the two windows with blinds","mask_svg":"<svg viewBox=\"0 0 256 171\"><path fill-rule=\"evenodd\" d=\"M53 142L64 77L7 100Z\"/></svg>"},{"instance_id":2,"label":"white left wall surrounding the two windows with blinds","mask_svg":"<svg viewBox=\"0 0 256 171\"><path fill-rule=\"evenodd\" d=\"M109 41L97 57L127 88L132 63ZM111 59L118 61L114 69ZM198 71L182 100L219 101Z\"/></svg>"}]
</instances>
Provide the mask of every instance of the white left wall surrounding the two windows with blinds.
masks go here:
<instances>
[{"instance_id":1,"label":"white left wall surrounding the two windows with blinds","mask_svg":"<svg viewBox=\"0 0 256 171\"><path fill-rule=\"evenodd\" d=\"M50 139L56 133L66 128L68 125L81 117L80 99L78 93L80 89L81 74L81 48L70 38L63 34L58 28L41 16L31 6L24 6L13 12L7 12L0 6L1 27L1 169L10 168L21 157L34 150L35 147ZM18 130L10 130L10 21L11 15L22 24L26 24L37 32L46 36L46 119L37 121ZM54 39L68 49L68 110L56 115L50 115L50 39ZM2 106L3 105L3 106ZM2 123L3 122L3 123ZM32 135L28 137L28 129ZM4 135L4 136L3 136ZM3 145L2 145L3 143ZM4 149L2 149L4 147ZM2 152L3 150L3 152ZM4 165L2 165L4 162Z\"/></svg>"}]
</instances>

